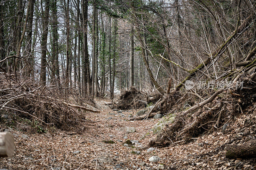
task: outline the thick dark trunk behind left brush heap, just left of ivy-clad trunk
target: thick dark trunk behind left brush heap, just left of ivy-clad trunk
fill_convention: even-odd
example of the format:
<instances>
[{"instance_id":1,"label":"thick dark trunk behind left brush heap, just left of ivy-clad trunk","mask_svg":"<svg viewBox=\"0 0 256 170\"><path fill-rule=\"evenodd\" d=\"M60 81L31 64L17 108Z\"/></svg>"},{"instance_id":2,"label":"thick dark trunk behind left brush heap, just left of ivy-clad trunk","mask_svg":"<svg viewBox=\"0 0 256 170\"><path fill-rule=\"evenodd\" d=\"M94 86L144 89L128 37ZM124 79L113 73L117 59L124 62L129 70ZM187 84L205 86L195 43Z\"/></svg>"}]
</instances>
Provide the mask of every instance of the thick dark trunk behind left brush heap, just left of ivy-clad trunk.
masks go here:
<instances>
[{"instance_id":1,"label":"thick dark trunk behind left brush heap, just left of ivy-clad trunk","mask_svg":"<svg viewBox=\"0 0 256 170\"><path fill-rule=\"evenodd\" d=\"M42 85L46 85L46 52L47 52L47 36L48 36L48 23L49 23L49 7L50 0L45 0L45 9L43 12L43 35L42 35L42 56L41 56L41 74L40 80ZM43 9L42 9L43 10Z\"/></svg>"}]
</instances>

